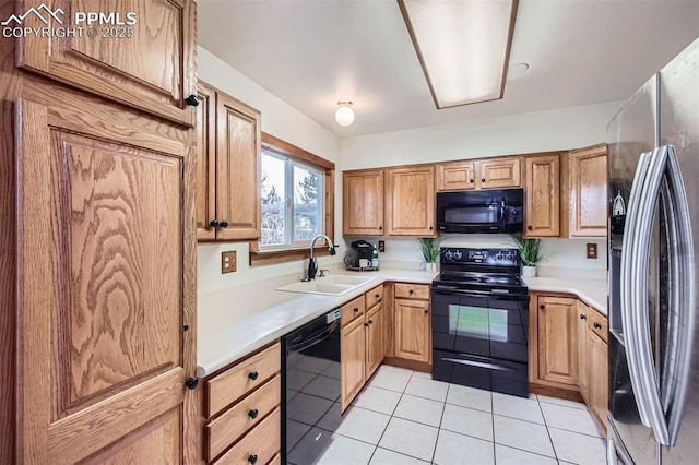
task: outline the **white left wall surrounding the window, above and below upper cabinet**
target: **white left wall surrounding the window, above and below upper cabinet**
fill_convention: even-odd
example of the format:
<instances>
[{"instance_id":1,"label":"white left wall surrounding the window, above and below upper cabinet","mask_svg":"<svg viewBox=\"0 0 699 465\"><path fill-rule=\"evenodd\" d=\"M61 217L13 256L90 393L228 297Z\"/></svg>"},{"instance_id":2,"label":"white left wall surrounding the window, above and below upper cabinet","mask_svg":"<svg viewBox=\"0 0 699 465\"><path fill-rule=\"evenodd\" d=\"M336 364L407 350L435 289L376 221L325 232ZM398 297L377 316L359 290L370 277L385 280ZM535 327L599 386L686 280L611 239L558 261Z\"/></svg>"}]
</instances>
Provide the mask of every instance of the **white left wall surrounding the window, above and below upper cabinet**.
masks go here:
<instances>
[{"instance_id":1,"label":"white left wall surrounding the window, above and below upper cabinet","mask_svg":"<svg viewBox=\"0 0 699 465\"><path fill-rule=\"evenodd\" d=\"M334 162L336 166L335 191L342 190L342 175L340 174L339 165L340 139L335 134L201 47L198 48L197 60L199 79L261 111L262 131ZM341 206L342 205L336 205L336 207ZM341 213L335 215L335 230L342 231ZM238 271L222 275L221 252L228 250L237 251ZM197 288L199 293L247 284L289 273L300 274L307 264L307 261L296 261L276 265L250 267L248 264L247 242L200 245L197 248ZM341 259L342 250L336 257L320 258L319 263L321 265L328 265Z\"/></svg>"}]
</instances>

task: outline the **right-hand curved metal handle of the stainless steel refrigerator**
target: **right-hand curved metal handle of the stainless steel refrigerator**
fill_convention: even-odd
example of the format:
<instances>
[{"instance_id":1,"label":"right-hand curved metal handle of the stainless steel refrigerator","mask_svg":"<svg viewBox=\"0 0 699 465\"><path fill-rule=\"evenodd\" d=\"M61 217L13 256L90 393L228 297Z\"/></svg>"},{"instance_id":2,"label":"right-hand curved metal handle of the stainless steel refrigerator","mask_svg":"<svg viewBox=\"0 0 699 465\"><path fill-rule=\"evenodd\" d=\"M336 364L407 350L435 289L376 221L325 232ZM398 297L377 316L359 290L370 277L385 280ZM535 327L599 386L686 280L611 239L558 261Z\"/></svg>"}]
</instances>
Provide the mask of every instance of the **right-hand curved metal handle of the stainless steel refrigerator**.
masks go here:
<instances>
[{"instance_id":1,"label":"right-hand curved metal handle of the stainless steel refrigerator","mask_svg":"<svg viewBox=\"0 0 699 465\"><path fill-rule=\"evenodd\" d=\"M667 412L668 445L677 441L682 414L689 385L694 345L696 308L695 251L689 204L679 163L673 146L667 147L666 217L668 229L668 262L671 282L668 320L673 338L667 342L665 357L665 410ZM674 283L674 284L673 284Z\"/></svg>"}]
</instances>

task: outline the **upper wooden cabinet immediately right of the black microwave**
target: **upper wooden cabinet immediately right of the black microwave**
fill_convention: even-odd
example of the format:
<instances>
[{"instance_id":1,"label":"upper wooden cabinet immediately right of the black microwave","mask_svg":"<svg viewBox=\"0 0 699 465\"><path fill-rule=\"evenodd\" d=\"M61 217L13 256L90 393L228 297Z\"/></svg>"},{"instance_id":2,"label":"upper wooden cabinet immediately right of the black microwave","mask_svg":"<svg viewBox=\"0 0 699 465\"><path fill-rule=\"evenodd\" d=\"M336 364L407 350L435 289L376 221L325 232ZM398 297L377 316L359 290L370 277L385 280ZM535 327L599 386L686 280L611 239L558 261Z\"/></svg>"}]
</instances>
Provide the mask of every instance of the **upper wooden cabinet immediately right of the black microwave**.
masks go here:
<instances>
[{"instance_id":1,"label":"upper wooden cabinet immediately right of the black microwave","mask_svg":"<svg viewBox=\"0 0 699 465\"><path fill-rule=\"evenodd\" d=\"M560 235L560 157L524 157L524 236Z\"/></svg>"}]
</instances>

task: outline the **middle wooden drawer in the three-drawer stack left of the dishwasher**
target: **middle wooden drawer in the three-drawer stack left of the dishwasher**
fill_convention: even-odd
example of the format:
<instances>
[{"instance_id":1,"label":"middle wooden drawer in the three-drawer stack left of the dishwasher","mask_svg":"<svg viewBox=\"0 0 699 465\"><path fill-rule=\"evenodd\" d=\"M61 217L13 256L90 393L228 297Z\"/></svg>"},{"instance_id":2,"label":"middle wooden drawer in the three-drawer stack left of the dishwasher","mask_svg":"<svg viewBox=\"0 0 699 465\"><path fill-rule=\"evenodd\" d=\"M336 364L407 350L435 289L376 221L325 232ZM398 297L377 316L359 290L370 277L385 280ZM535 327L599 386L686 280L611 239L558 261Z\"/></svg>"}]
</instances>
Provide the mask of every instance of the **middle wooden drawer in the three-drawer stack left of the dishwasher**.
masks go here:
<instances>
[{"instance_id":1,"label":"middle wooden drawer in the three-drawer stack left of the dishwasher","mask_svg":"<svg viewBox=\"0 0 699 465\"><path fill-rule=\"evenodd\" d=\"M242 433L260 422L280 405L282 393L280 375L275 375L262 388L226 410L205 427L206 460L211 461L240 438Z\"/></svg>"}]
</instances>

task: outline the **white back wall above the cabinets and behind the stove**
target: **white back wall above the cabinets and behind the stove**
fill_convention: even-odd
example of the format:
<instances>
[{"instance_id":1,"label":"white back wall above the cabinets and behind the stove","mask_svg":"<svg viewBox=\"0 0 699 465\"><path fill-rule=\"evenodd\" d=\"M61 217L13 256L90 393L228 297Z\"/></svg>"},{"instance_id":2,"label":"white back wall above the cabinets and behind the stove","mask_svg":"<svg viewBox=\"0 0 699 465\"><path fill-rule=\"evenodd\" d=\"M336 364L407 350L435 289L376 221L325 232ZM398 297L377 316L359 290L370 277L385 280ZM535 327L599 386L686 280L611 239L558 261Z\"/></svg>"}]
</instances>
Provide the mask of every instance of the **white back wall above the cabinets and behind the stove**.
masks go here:
<instances>
[{"instance_id":1,"label":"white back wall above the cabinets and behind the stove","mask_svg":"<svg viewBox=\"0 0 699 465\"><path fill-rule=\"evenodd\" d=\"M348 170L583 147L606 141L606 126L623 104L609 102L343 139L341 166L342 170ZM381 261L419 265L420 254L415 239L382 239L386 240L387 252L380 254ZM356 238L345 238L346 245L352 240ZM378 239L367 240L374 243ZM599 259L585 259L587 242L597 243ZM509 238L460 235L451 237L447 243L501 247L509 243ZM547 258L543 263L545 266L606 269L605 241L546 239L544 254Z\"/></svg>"}]
</instances>

